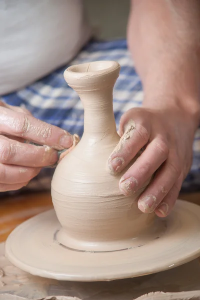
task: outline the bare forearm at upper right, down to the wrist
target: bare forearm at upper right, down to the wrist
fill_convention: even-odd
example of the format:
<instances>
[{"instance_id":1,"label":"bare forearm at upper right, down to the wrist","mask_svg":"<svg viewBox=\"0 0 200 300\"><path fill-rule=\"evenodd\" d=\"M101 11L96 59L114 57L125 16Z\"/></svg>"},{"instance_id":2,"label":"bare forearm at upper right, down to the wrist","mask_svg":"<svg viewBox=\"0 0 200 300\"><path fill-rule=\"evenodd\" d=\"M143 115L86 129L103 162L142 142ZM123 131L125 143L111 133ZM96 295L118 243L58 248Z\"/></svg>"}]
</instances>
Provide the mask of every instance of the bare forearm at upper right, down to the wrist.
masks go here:
<instances>
[{"instance_id":1,"label":"bare forearm at upper right, down to the wrist","mask_svg":"<svg viewBox=\"0 0 200 300\"><path fill-rule=\"evenodd\" d=\"M200 1L132 0L127 40L143 105L178 105L199 122Z\"/></svg>"}]
</instances>

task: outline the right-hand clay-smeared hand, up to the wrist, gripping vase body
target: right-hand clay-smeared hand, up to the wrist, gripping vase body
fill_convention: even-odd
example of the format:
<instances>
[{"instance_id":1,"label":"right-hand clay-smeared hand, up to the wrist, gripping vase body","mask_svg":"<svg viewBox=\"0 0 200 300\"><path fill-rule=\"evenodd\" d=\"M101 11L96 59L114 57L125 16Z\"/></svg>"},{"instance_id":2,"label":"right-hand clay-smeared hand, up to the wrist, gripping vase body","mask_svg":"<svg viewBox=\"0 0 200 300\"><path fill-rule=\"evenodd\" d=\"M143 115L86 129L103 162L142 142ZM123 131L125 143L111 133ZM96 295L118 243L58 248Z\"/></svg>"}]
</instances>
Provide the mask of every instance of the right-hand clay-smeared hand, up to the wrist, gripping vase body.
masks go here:
<instances>
[{"instance_id":1,"label":"right-hand clay-smeared hand, up to the wrist, gripping vase body","mask_svg":"<svg viewBox=\"0 0 200 300\"><path fill-rule=\"evenodd\" d=\"M138 198L142 212L163 217L171 211L191 165L194 131L187 113L177 107L132 108L122 115L121 138L108 166L112 173L121 172L144 147L119 181L121 192L131 195L156 172Z\"/></svg>"}]
</instances>

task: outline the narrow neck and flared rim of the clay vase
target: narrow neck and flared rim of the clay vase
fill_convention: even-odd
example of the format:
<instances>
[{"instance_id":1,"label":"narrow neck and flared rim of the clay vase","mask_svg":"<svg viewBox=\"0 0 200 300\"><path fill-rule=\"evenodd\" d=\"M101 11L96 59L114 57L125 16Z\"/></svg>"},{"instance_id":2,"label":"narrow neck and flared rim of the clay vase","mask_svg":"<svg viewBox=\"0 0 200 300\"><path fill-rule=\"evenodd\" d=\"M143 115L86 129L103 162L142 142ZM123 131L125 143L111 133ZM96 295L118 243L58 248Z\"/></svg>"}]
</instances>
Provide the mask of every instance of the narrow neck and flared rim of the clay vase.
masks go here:
<instances>
[{"instance_id":1,"label":"narrow neck and flared rim of the clay vase","mask_svg":"<svg viewBox=\"0 0 200 300\"><path fill-rule=\"evenodd\" d=\"M116 61L93 61L64 71L66 82L78 93L84 107L84 133L116 133L112 91L119 69Z\"/></svg>"}]
</instances>

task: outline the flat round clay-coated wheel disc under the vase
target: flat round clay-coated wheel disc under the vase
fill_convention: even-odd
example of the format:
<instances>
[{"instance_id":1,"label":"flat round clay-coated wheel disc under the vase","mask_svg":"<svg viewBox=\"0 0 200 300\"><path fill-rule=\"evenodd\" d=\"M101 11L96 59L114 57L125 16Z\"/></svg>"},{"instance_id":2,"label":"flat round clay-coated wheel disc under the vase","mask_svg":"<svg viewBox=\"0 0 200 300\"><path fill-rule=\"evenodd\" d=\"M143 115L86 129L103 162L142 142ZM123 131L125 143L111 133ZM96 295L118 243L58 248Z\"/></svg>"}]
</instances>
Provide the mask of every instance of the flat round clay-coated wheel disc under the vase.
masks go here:
<instances>
[{"instance_id":1,"label":"flat round clay-coated wheel disc under the vase","mask_svg":"<svg viewBox=\"0 0 200 300\"><path fill-rule=\"evenodd\" d=\"M142 246L111 252L85 252L56 241L60 228L54 210L40 213L8 236L5 254L33 275L58 280L102 281L169 269L200 255L200 206L177 200L163 219L164 233Z\"/></svg>"}]
</instances>

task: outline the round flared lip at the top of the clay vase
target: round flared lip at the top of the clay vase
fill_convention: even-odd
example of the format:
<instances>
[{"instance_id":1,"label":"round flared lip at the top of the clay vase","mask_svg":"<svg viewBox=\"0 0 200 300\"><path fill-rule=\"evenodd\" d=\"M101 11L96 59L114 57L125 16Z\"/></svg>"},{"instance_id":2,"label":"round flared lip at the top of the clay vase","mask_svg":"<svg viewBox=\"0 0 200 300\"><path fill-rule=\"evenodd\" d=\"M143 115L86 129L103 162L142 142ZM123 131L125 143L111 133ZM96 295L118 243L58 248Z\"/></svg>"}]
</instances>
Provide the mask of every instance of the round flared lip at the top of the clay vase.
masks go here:
<instances>
[{"instance_id":1,"label":"round flared lip at the top of the clay vase","mask_svg":"<svg viewBox=\"0 0 200 300\"><path fill-rule=\"evenodd\" d=\"M64 78L82 78L82 77L95 77L112 73L120 69L120 65L114 60L97 60L92 62L84 62L74 64L67 67L64 71Z\"/></svg>"}]
</instances>

